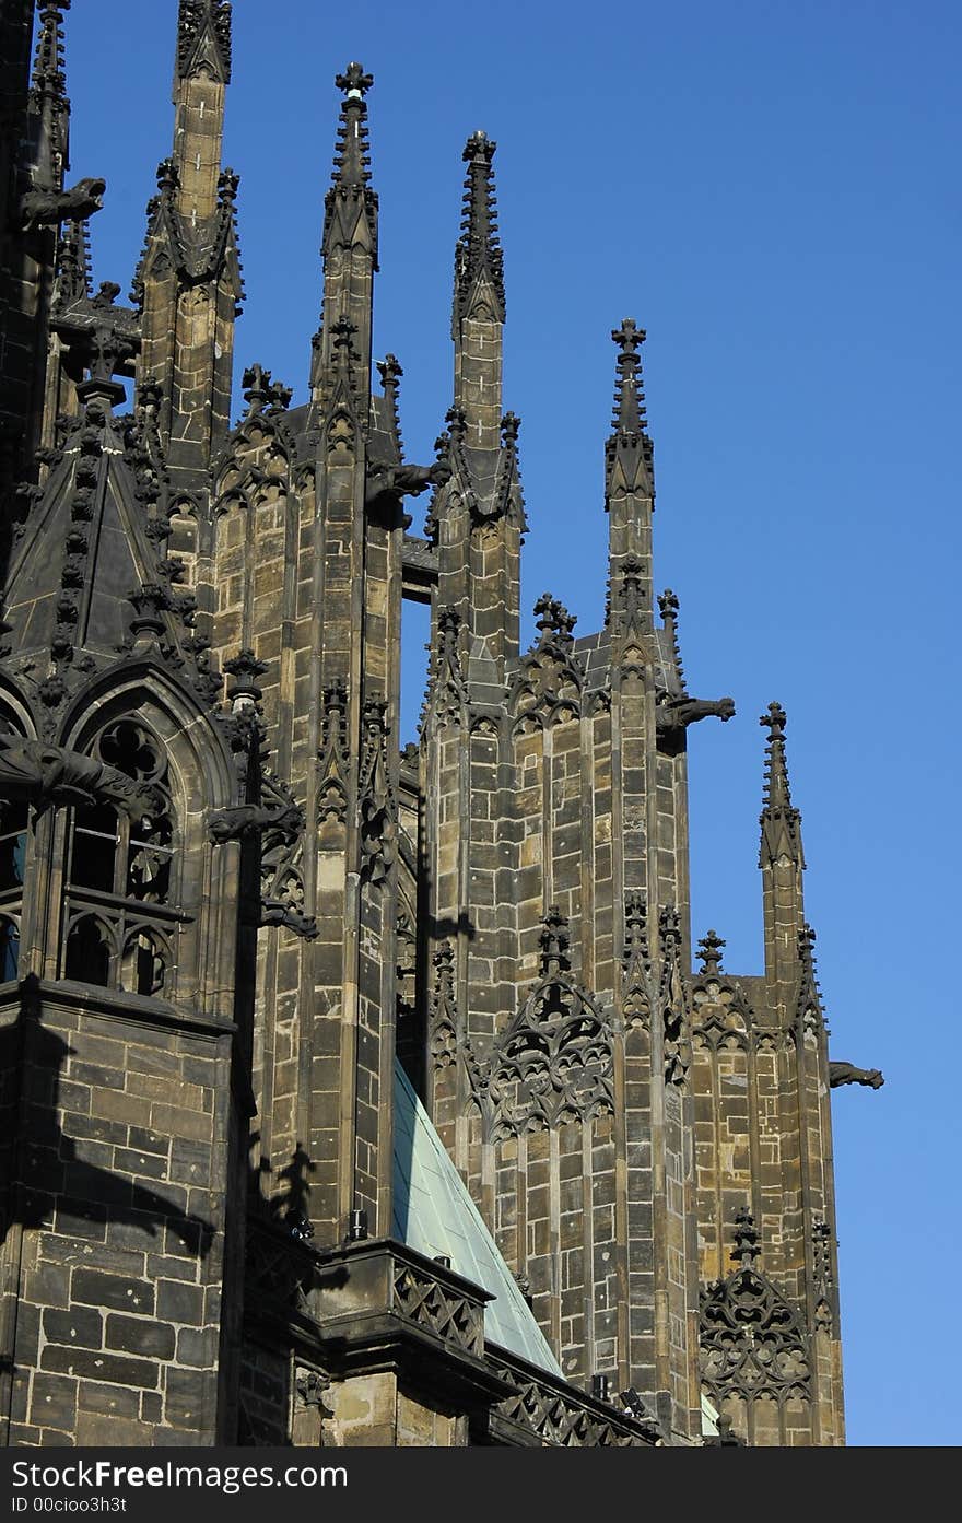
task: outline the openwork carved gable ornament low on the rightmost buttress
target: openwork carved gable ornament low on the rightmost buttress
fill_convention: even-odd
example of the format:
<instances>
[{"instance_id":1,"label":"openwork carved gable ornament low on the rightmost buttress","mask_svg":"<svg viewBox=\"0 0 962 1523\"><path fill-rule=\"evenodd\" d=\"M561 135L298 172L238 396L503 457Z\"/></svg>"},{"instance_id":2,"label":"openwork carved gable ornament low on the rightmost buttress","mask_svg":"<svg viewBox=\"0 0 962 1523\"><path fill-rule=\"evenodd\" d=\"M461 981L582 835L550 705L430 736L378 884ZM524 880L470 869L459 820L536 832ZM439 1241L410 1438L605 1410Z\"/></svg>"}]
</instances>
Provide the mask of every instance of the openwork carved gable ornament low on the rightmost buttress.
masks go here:
<instances>
[{"instance_id":1,"label":"openwork carved gable ornament low on the rightmost buttress","mask_svg":"<svg viewBox=\"0 0 962 1523\"><path fill-rule=\"evenodd\" d=\"M741 1397L811 1398L808 1336L770 1279L755 1267L758 1232L747 1211L738 1212L738 1260L726 1279L702 1292L699 1313L702 1384L712 1401Z\"/></svg>"}]
</instances>

